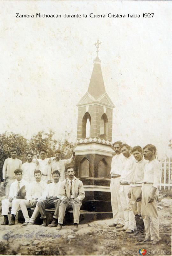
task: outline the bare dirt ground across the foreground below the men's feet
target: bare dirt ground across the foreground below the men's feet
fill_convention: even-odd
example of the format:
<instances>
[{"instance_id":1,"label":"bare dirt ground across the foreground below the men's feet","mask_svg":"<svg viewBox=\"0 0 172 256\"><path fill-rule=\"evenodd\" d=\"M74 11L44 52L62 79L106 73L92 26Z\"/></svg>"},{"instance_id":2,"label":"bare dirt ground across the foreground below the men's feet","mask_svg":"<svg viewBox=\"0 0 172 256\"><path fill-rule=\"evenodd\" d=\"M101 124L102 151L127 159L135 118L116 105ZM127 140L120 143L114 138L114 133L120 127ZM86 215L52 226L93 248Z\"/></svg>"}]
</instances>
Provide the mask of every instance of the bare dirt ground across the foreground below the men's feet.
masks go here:
<instances>
[{"instance_id":1,"label":"bare dirt ground across the foreground below the men's feet","mask_svg":"<svg viewBox=\"0 0 172 256\"><path fill-rule=\"evenodd\" d=\"M23 227L16 218L15 226L0 226L0 254L139 255L139 249L144 248L158 250L146 255L171 255L171 199L163 198L159 206L161 241L155 246L150 242L139 244L137 237L109 227L112 220L81 224L74 232L73 226L64 226L61 231L38 225ZM3 220L1 215L0 222Z\"/></svg>"}]
</instances>

